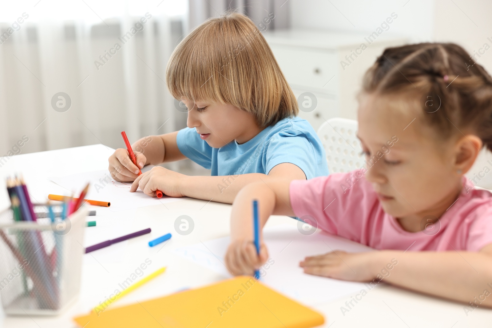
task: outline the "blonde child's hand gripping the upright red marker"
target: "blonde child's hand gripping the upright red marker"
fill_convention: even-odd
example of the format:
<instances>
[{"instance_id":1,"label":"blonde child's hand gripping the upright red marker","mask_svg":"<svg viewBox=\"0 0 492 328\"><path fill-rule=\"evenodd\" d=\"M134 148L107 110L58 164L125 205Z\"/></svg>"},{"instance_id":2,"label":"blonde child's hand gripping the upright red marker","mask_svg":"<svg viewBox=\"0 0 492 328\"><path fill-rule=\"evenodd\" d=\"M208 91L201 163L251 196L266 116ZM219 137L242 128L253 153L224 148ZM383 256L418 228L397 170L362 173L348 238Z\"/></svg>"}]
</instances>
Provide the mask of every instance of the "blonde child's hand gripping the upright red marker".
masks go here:
<instances>
[{"instance_id":1,"label":"blonde child's hand gripping the upright red marker","mask_svg":"<svg viewBox=\"0 0 492 328\"><path fill-rule=\"evenodd\" d=\"M120 182L133 181L138 177L139 169L147 163L147 158L143 153L134 151L137 158L138 167L132 163L128 150L119 148L109 156L109 172L111 177Z\"/></svg>"}]
</instances>

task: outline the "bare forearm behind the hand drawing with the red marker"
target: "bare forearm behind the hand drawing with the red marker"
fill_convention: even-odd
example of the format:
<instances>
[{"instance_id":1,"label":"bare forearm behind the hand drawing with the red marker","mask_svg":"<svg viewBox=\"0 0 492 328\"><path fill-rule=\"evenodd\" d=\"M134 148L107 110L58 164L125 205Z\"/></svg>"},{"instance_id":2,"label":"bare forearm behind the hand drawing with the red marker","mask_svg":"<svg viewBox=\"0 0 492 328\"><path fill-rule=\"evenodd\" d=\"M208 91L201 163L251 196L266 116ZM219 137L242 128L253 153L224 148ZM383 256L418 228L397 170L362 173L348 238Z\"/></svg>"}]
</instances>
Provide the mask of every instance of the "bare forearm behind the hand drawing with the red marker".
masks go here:
<instances>
[{"instance_id":1,"label":"bare forearm behind the hand drawing with the red marker","mask_svg":"<svg viewBox=\"0 0 492 328\"><path fill-rule=\"evenodd\" d=\"M145 155L147 162L143 163L144 165L158 165L185 159L186 156L181 153L176 142L178 132L143 137L133 143L131 148Z\"/></svg>"}]
</instances>

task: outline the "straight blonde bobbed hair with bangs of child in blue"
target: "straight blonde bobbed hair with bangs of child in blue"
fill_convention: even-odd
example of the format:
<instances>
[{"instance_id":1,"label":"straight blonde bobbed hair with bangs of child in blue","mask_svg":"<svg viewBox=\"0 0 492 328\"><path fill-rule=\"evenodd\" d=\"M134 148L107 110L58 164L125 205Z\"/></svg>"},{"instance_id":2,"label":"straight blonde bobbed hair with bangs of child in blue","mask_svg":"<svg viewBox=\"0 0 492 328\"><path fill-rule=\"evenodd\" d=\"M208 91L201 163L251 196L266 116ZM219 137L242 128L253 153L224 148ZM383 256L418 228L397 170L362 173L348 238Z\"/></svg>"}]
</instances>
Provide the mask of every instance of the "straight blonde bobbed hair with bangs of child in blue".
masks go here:
<instances>
[{"instance_id":1,"label":"straight blonde bobbed hair with bangs of child in blue","mask_svg":"<svg viewBox=\"0 0 492 328\"><path fill-rule=\"evenodd\" d=\"M232 104L260 126L298 113L265 38L238 13L211 18L187 35L169 60L166 82L176 99Z\"/></svg>"}]
</instances>

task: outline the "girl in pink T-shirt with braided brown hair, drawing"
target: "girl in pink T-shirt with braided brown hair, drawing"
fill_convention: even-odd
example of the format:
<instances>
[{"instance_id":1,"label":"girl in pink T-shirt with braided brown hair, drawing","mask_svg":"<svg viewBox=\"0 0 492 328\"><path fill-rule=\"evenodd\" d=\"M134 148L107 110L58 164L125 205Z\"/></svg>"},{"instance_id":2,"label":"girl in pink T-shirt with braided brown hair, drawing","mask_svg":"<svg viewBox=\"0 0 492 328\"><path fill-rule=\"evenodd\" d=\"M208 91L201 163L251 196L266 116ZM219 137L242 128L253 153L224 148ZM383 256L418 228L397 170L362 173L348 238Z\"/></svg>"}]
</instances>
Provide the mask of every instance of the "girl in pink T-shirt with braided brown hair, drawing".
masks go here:
<instances>
[{"instance_id":1,"label":"girl in pink T-shirt with braided brown hair, drawing","mask_svg":"<svg viewBox=\"0 0 492 328\"><path fill-rule=\"evenodd\" d=\"M249 242L258 199L262 225L272 214L309 216L329 234L376 249L307 257L306 273L384 279L492 307L492 193L464 177L483 147L492 150L491 76L456 44L388 48L364 76L358 120L365 168L240 191L227 267L250 274L268 259L264 244L257 256Z\"/></svg>"}]
</instances>

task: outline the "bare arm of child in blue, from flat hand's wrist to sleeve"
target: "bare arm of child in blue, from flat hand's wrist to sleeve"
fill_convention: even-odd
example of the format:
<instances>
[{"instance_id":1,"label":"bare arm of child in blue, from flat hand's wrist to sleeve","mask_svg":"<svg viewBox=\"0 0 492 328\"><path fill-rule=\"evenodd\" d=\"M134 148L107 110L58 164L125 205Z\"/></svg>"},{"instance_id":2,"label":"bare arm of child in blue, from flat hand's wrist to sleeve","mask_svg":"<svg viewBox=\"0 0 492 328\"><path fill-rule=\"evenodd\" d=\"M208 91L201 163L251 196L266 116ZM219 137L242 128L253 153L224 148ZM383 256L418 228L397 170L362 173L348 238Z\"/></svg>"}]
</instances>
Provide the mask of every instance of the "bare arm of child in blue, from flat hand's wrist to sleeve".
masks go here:
<instances>
[{"instance_id":1,"label":"bare arm of child in blue, from flat hand's wrist to sleeve","mask_svg":"<svg viewBox=\"0 0 492 328\"><path fill-rule=\"evenodd\" d=\"M184 196L231 204L238 192L247 184L252 182L265 184L282 178L288 178L290 181L306 179L306 175L303 170L294 164L281 163L275 166L268 175L248 173L216 177L184 176L180 183L180 191Z\"/></svg>"}]
</instances>

